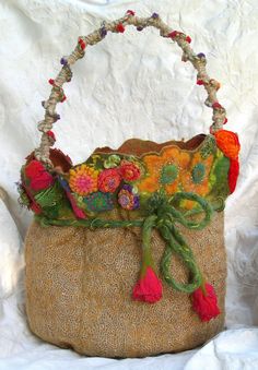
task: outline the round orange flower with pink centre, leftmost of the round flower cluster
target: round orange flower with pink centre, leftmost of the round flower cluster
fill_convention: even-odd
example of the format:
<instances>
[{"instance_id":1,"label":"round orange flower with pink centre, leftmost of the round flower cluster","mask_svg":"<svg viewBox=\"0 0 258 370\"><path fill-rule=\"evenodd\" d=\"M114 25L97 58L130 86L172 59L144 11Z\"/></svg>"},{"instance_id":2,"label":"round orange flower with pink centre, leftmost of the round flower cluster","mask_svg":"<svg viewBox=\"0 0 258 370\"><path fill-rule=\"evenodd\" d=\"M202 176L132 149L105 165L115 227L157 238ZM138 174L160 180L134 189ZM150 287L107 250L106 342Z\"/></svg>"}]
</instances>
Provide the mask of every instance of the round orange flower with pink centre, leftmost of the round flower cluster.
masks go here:
<instances>
[{"instance_id":1,"label":"round orange flower with pink centre, leftmost of the round flower cluster","mask_svg":"<svg viewBox=\"0 0 258 370\"><path fill-rule=\"evenodd\" d=\"M69 171L69 186L79 195L97 191L98 171L87 165L80 165Z\"/></svg>"}]
</instances>

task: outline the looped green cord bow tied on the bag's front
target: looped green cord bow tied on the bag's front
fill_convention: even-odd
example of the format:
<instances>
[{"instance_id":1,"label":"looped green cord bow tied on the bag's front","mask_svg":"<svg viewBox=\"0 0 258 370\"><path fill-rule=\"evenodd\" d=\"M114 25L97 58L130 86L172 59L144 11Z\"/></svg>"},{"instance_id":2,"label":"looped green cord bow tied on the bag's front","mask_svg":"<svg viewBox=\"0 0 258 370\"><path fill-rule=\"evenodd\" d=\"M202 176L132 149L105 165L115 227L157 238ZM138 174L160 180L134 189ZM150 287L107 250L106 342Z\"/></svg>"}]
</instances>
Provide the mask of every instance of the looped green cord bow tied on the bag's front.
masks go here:
<instances>
[{"instance_id":1,"label":"looped green cord bow tied on the bag's front","mask_svg":"<svg viewBox=\"0 0 258 370\"><path fill-rule=\"evenodd\" d=\"M185 214L179 211L178 205L185 200L194 201L198 204L198 206L195 207L195 211ZM177 205L177 208L173 204ZM166 248L161 260L161 273L164 281L173 288L188 294L199 288L202 284L201 272L191 249L177 229L176 224L181 224L188 229L200 230L209 224L212 212L213 210L209 202L198 194L179 192L172 199L167 199L162 192L155 193L149 201L149 216L145 218L142 227L143 259L141 275L142 270L146 268L146 266L154 267L151 258L150 236L152 228L155 227L159 229L162 238L166 241ZM200 220L194 219L192 215L196 213L204 213L204 216ZM177 254L188 267L191 274L190 283L180 284L173 278L169 272L173 254Z\"/></svg>"}]
</instances>

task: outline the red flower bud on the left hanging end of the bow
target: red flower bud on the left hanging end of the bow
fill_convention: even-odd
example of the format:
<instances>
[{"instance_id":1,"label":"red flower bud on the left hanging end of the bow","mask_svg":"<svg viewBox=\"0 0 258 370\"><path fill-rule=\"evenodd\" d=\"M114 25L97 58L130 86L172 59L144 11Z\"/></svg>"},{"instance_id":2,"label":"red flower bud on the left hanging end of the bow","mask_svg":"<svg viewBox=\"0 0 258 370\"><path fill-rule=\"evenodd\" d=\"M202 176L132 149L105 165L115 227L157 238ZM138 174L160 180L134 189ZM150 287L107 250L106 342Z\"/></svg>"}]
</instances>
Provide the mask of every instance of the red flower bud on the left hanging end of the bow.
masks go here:
<instances>
[{"instance_id":1,"label":"red flower bud on the left hanging end of the bow","mask_svg":"<svg viewBox=\"0 0 258 370\"><path fill-rule=\"evenodd\" d=\"M146 266L144 276L134 285L132 298L149 303L155 303L162 298L162 283L151 266Z\"/></svg>"}]
</instances>

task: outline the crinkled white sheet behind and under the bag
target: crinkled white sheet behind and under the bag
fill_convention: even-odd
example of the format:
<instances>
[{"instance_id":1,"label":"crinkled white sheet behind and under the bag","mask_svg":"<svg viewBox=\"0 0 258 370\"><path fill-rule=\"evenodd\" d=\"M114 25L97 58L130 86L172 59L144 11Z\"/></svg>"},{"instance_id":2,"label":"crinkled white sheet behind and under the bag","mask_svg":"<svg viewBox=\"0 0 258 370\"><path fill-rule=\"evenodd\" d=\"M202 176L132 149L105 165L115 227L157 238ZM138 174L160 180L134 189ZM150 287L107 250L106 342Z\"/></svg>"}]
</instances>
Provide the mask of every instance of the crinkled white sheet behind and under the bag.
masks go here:
<instances>
[{"instance_id":1,"label":"crinkled white sheet behind and under the bag","mask_svg":"<svg viewBox=\"0 0 258 370\"><path fill-rule=\"evenodd\" d=\"M199 350L145 359L81 357L33 336L23 305L23 244L32 215L16 202L24 157L38 145L36 123L47 81L79 35L127 9L153 11L191 35L208 70L222 83L226 129L238 132L241 177L225 212L227 330ZM0 369L256 369L258 368L258 4L256 0L1 0L0 1ZM57 146L74 163L96 146L138 136L159 142L208 132L211 111L180 51L154 29L127 29L89 47L64 86Z\"/></svg>"}]
</instances>

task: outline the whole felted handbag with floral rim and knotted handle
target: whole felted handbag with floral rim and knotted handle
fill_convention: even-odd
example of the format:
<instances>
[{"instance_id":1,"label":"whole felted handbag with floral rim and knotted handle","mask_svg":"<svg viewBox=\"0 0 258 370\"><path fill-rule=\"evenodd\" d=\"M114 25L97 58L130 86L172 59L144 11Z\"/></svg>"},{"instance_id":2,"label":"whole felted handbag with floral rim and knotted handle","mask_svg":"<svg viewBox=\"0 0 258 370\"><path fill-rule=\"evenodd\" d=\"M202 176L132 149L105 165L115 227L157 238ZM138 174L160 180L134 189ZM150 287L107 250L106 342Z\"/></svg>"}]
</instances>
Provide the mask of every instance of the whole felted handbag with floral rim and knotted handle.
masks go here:
<instances>
[{"instance_id":1,"label":"whole felted handbag with floral rim and knotted handle","mask_svg":"<svg viewBox=\"0 0 258 370\"><path fill-rule=\"evenodd\" d=\"M162 144L131 139L72 165L51 148L62 85L86 46L127 25L156 27L183 49L208 93L210 133ZM236 186L239 142L223 130L220 84L190 41L156 13L128 11L80 37L49 80L42 142L19 186L20 202L35 214L25 239L26 313L44 341L89 356L143 357L195 348L223 330L223 210Z\"/></svg>"}]
</instances>

